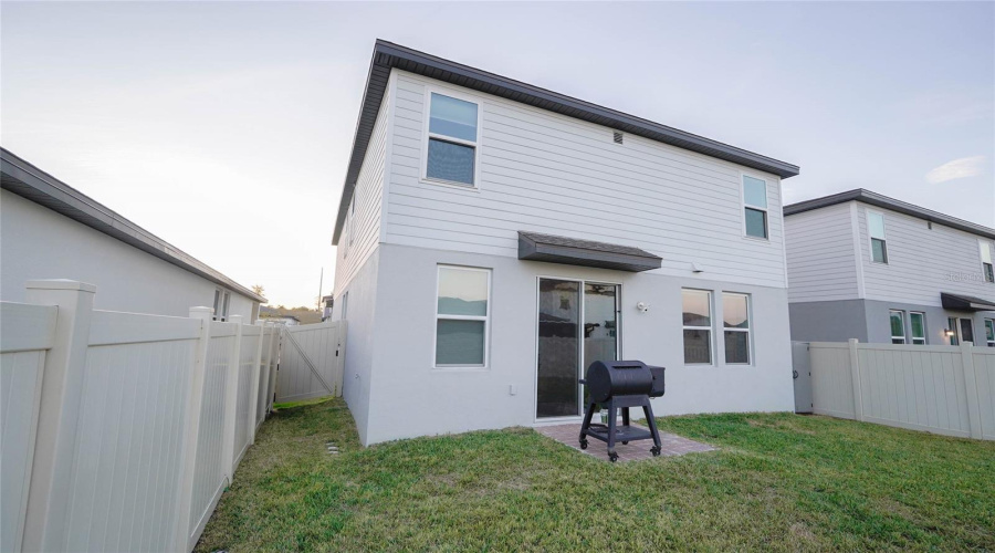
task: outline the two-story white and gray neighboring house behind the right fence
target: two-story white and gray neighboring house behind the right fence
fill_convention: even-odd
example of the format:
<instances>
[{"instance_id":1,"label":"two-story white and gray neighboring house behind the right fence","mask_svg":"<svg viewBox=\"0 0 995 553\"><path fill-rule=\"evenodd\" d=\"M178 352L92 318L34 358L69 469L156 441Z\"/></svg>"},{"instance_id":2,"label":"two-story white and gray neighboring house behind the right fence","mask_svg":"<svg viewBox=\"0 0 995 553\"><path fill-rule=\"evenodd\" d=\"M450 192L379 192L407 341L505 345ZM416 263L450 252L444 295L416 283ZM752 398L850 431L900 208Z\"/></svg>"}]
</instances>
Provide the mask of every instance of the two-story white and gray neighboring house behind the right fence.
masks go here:
<instances>
[{"instance_id":1,"label":"two-story white and gray neighboring house behind the right fence","mask_svg":"<svg viewBox=\"0 0 995 553\"><path fill-rule=\"evenodd\" d=\"M862 189L784 216L792 340L995 347L995 229Z\"/></svg>"}]
</instances>

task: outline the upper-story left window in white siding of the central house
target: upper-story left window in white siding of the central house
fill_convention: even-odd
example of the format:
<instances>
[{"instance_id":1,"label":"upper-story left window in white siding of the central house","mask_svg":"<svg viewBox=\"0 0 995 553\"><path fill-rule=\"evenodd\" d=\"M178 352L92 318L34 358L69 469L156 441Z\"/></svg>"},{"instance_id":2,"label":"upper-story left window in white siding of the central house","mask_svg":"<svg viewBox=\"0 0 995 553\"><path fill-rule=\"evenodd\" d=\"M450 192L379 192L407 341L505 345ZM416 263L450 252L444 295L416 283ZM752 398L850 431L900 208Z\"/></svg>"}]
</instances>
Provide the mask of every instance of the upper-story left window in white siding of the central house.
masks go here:
<instances>
[{"instance_id":1,"label":"upper-story left window in white siding of the central house","mask_svg":"<svg viewBox=\"0 0 995 553\"><path fill-rule=\"evenodd\" d=\"M429 102L425 177L476 187L478 104L436 92Z\"/></svg>"}]
</instances>

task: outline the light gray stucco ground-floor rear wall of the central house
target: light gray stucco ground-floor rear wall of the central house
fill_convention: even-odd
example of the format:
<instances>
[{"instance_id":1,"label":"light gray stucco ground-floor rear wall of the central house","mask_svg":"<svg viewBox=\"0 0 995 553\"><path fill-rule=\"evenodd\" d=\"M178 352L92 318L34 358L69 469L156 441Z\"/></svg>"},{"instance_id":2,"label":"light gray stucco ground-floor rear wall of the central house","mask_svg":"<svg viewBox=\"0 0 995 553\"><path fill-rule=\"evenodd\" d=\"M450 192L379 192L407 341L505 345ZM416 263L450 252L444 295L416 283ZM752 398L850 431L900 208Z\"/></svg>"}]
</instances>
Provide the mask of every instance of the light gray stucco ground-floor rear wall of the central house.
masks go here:
<instances>
[{"instance_id":1,"label":"light gray stucco ground-floor rear wall of the central house","mask_svg":"<svg viewBox=\"0 0 995 553\"><path fill-rule=\"evenodd\" d=\"M432 368L440 263L493 270L488 368ZM370 342L376 349L366 354L373 368L367 427L360 428L364 444L535 424L540 275L621 284L621 356L668 367L667 395L653 403L657 415L793 410L785 289L709 281L693 276L690 271L687 278L633 274L519 261L503 255L381 244L375 335ZM356 279L353 286L360 280L364 279ZM720 361L715 366L683 365L682 286L752 294L752 366L724 365L721 346L715 353ZM350 341L355 335L353 301L350 293ZM649 303L649 312L639 312L638 302ZM715 306L716 321L721 321L721 302L715 301ZM720 328L718 322L715 327ZM350 342L347 367L352 367L350 356L355 354ZM347 386L356 386L350 368L345 378ZM353 399L349 400L352 406ZM356 416L360 427L362 417Z\"/></svg>"}]
</instances>

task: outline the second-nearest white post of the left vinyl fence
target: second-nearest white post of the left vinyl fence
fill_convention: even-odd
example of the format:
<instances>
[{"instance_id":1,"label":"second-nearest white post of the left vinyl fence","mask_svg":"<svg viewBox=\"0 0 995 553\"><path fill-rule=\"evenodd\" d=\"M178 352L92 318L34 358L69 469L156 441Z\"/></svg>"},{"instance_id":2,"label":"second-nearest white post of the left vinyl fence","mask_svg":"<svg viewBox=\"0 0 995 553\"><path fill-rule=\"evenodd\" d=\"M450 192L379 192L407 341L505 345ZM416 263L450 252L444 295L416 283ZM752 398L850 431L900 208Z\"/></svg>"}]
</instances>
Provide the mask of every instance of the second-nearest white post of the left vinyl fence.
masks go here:
<instances>
[{"instance_id":1,"label":"second-nearest white post of the left vinyl fence","mask_svg":"<svg viewBox=\"0 0 995 553\"><path fill-rule=\"evenodd\" d=\"M211 307L190 307L190 319L200 321L200 335L193 349L193 366L187 377L187 403L184 406L182 466L176 502L176 529L169 551L190 551L190 525L193 518L193 477L197 473L197 442L200 438L200 411L203 408L203 382L207 375L208 345L211 342Z\"/></svg>"}]
</instances>

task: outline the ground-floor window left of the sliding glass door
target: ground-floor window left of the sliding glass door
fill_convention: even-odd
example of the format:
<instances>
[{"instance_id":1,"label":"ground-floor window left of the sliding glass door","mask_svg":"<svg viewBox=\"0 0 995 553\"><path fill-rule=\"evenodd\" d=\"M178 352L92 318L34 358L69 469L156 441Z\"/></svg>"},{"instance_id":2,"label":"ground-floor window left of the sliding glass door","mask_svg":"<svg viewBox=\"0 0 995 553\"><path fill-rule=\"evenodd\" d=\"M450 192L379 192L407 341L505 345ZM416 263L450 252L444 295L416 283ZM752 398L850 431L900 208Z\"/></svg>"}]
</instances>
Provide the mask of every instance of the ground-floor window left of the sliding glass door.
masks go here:
<instances>
[{"instance_id":1,"label":"ground-floor window left of the sliding glass door","mask_svg":"<svg viewBox=\"0 0 995 553\"><path fill-rule=\"evenodd\" d=\"M436 296L436 367L485 366L491 270L439 265Z\"/></svg>"}]
</instances>

